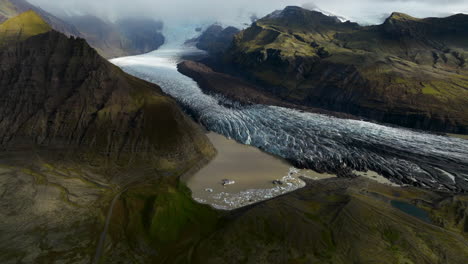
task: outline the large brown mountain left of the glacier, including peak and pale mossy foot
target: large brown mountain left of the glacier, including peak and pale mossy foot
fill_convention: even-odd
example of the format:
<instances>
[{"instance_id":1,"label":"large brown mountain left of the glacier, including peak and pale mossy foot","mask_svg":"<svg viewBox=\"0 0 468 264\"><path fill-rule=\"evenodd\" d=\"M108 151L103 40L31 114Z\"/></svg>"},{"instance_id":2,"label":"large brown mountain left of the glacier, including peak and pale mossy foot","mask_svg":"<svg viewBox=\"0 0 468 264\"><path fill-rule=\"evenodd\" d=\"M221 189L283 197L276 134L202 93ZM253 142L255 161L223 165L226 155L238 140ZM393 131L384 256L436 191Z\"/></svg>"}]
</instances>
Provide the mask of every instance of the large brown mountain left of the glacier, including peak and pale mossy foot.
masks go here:
<instances>
[{"instance_id":1,"label":"large brown mountain left of the glacier, including peak and pale mossy foot","mask_svg":"<svg viewBox=\"0 0 468 264\"><path fill-rule=\"evenodd\" d=\"M214 150L158 86L84 39L34 11L0 29L0 262L91 263L113 199L174 188Z\"/></svg>"}]
</instances>

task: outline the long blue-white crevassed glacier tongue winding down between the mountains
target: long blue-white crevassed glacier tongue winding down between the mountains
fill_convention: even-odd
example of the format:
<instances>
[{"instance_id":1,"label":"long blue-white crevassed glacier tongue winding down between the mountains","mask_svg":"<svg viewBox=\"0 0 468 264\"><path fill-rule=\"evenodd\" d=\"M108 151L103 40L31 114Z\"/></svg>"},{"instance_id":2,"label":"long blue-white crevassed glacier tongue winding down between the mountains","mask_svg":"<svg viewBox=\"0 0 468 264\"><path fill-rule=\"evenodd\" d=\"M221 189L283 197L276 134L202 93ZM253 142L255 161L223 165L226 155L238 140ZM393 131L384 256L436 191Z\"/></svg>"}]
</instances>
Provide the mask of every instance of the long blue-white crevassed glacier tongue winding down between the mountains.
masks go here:
<instances>
[{"instance_id":1,"label":"long blue-white crevassed glacier tongue winding down between the mountains","mask_svg":"<svg viewBox=\"0 0 468 264\"><path fill-rule=\"evenodd\" d=\"M112 62L161 86L209 130L298 166L333 173L373 170L398 184L468 192L468 140L282 107L240 106L204 94L176 68L181 56L200 51L173 39L160 50Z\"/></svg>"}]
</instances>

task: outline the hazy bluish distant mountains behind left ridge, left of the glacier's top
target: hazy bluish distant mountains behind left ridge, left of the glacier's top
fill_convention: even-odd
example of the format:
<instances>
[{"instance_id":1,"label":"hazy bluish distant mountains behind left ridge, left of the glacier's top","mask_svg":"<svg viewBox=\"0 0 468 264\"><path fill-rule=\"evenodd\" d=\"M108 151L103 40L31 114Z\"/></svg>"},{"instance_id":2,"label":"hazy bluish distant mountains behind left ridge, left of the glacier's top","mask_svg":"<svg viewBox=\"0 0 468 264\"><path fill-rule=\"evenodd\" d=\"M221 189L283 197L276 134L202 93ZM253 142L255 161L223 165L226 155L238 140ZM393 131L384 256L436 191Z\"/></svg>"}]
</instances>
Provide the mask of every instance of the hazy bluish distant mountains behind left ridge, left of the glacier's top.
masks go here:
<instances>
[{"instance_id":1,"label":"hazy bluish distant mountains behind left ridge, left of the glacier's top","mask_svg":"<svg viewBox=\"0 0 468 264\"><path fill-rule=\"evenodd\" d=\"M127 18L112 23L91 15L58 18L26 0L0 0L0 22L29 10L55 31L85 38L105 58L147 53L164 44L163 24L158 21Z\"/></svg>"}]
</instances>

